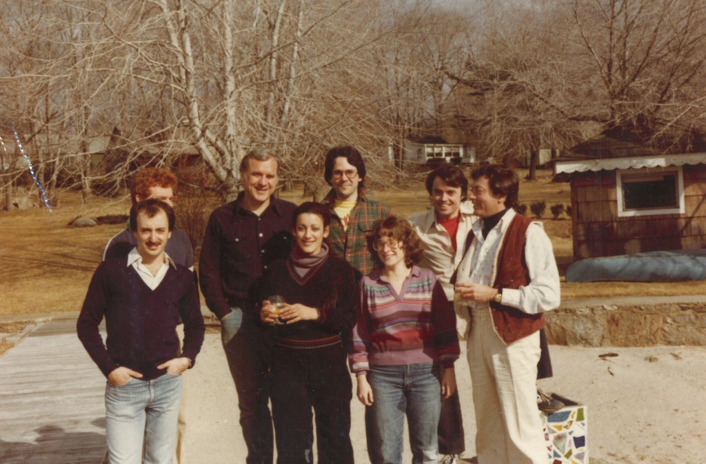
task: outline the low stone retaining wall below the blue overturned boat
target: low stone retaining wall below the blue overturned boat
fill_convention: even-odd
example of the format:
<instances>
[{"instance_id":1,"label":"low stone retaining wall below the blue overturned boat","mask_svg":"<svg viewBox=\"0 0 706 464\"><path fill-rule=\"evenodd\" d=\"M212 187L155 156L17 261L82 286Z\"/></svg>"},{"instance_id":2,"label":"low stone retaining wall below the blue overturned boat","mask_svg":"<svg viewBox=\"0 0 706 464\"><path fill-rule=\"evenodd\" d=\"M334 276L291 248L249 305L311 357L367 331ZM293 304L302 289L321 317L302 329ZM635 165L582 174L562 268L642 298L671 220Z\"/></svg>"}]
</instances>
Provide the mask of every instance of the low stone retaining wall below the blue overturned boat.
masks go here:
<instances>
[{"instance_id":1,"label":"low stone retaining wall below the blue overturned boat","mask_svg":"<svg viewBox=\"0 0 706 464\"><path fill-rule=\"evenodd\" d=\"M558 309L546 314L546 323L554 345L706 345L706 305L700 303Z\"/></svg>"}]
</instances>

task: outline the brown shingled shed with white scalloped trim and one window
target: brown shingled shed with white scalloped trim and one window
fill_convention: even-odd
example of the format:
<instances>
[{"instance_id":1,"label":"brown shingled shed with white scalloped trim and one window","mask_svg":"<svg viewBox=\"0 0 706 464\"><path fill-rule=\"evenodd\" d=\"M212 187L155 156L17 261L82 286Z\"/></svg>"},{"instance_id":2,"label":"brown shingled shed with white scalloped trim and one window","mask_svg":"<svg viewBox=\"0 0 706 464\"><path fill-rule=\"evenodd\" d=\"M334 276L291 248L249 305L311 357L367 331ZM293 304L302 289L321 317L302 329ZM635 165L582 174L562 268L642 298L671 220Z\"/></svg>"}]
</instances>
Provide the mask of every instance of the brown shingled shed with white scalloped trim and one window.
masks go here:
<instances>
[{"instance_id":1,"label":"brown shingled shed with white scalloped trim and one window","mask_svg":"<svg viewBox=\"0 0 706 464\"><path fill-rule=\"evenodd\" d=\"M571 182L575 261L706 245L706 137L616 127L556 158Z\"/></svg>"}]
</instances>

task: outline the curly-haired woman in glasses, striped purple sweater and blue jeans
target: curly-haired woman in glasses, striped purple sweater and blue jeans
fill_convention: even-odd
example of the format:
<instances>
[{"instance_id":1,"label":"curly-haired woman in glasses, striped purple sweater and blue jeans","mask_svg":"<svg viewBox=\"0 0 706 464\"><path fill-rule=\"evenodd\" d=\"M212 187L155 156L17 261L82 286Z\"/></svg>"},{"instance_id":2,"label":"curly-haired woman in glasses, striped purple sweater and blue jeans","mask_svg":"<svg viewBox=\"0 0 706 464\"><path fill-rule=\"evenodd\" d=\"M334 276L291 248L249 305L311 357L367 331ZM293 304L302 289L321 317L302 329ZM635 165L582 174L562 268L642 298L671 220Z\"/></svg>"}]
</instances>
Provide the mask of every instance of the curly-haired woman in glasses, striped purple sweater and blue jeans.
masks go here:
<instances>
[{"instance_id":1,"label":"curly-haired woman in glasses, striped purple sweater and blue jeans","mask_svg":"<svg viewBox=\"0 0 706 464\"><path fill-rule=\"evenodd\" d=\"M407 220L376 222L368 248L383 267L360 282L349 363L367 407L369 457L402 463L406 414L412 463L436 464L441 396L456 388L456 316L433 272L415 266L424 251Z\"/></svg>"}]
</instances>

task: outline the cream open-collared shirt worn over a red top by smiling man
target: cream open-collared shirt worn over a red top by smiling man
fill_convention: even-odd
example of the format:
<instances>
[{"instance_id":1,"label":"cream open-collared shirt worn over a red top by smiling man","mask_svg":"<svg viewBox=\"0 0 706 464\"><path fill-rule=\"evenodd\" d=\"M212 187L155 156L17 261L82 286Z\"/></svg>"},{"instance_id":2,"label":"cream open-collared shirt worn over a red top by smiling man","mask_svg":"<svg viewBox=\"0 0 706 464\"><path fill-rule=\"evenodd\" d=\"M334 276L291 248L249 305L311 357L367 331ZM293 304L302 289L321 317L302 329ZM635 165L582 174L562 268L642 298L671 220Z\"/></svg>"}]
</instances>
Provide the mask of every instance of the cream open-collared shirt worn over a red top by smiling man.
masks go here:
<instances>
[{"instance_id":1,"label":"cream open-collared shirt worn over a red top by smiling man","mask_svg":"<svg viewBox=\"0 0 706 464\"><path fill-rule=\"evenodd\" d=\"M443 225L436 221L436 210L431 208L424 213L418 213L409 217L409 222L421 239L421 247L424 249L424 259L419 263L420 268L431 269L446 294L446 298L453 301L453 285L450 283L451 276L463 258L465 242L473 223L477 216L473 214L473 204L464 201L460 204L458 229L456 230L456 251L453 251L451 237L446 232Z\"/></svg>"}]
</instances>

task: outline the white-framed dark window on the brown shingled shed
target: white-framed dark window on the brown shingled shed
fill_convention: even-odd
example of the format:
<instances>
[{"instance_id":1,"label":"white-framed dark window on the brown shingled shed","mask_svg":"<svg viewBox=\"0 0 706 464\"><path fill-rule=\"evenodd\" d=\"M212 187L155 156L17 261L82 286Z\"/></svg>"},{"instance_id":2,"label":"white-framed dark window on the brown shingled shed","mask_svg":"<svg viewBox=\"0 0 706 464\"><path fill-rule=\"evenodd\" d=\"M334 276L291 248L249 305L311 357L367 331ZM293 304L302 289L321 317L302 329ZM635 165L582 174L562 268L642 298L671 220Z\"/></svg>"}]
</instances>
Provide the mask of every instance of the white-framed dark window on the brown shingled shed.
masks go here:
<instances>
[{"instance_id":1,"label":"white-framed dark window on the brown shingled shed","mask_svg":"<svg viewBox=\"0 0 706 464\"><path fill-rule=\"evenodd\" d=\"M681 167L618 171L618 216L684 213L684 181Z\"/></svg>"}]
</instances>

